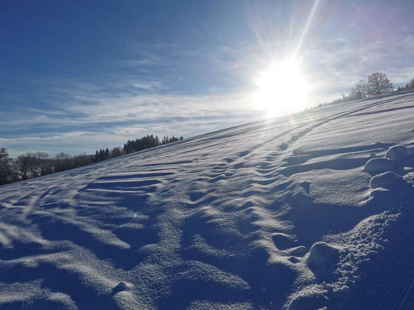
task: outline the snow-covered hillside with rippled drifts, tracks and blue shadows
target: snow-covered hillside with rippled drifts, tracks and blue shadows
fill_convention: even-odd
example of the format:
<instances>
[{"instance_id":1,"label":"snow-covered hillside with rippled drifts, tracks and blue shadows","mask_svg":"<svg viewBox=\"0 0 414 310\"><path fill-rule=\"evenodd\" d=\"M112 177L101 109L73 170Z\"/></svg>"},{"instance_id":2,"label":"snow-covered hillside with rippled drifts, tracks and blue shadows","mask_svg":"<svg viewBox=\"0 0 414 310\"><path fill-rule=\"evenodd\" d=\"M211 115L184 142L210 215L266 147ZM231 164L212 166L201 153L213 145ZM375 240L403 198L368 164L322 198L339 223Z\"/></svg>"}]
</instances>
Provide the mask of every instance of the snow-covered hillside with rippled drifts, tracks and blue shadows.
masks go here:
<instances>
[{"instance_id":1,"label":"snow-covered hillside with rippled drifts, tracks and blue shadows","mask_svg":"<svg viewBox=\"0 0 414 310\"><path fill-rule=\"evenodd\" d=\"M412 309L414 92L0 187L1 309Z\"/></svg>"}]
</instances>

